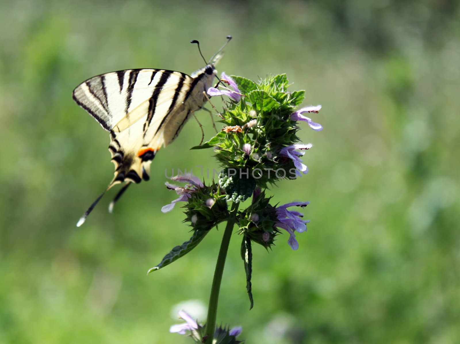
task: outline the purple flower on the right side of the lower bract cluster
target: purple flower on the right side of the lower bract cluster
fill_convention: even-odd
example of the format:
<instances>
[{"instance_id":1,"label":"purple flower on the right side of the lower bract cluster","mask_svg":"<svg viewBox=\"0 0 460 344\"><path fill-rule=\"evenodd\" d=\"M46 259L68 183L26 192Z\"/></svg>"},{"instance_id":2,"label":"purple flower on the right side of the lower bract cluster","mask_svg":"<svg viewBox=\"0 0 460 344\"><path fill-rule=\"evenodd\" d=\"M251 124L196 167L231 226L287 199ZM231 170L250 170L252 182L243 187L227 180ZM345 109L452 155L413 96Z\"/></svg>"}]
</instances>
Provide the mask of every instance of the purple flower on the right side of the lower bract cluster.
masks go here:
<instances>
[{"instance_id":1,"label":"purple flower on the right side of the lower bract cluster","mask_svg":"<svg viewBox=\"0 0 460 344\"><path fill-rule=\"evenodd\" d=\"M293 250L299 248L299 243L295 239L295 232L302 233L307 230L306 224L310 220L302 220L304 214L301 212L291 211L287 208L290 206L307 206L310 202L291 202L283 206L276 207L276 216L278 217L278 223L276 227L285 229L289 233L288 244Z\"/></svg>"}]
</instances>

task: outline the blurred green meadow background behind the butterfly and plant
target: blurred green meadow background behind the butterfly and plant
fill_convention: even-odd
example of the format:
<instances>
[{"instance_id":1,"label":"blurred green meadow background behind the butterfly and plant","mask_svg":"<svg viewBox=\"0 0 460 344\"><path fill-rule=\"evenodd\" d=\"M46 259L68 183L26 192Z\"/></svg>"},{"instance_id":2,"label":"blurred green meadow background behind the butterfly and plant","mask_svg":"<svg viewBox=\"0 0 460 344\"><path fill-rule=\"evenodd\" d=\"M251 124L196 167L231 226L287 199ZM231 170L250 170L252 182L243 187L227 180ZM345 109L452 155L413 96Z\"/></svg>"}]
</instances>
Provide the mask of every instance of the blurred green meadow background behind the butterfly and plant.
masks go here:
<instances>
[{"instance_id":1,"label":"blurred green meadow background behind the butterfly and plant","mask_svg":"<svg viewBox=\"0 0 460 344\"><path fill-rule=\"evenodd\" d=\"M191 343L174 305L206 306L222 229L146 277L189 227L165 169L217 168L190 120L160 150L151 181L109 215L109 135L72 100L119 69L190 74L217 66L258 80L287 73L314 144L308 175L270 190L308 200L308 231L254 248L249 311L240 238L231 243L218 323L247 343L458 343L460 338L459 2L1 1L0 343ZM209 116L200 118L213 135ZM168 172L169 173L169 172ZM190 312L199 316L199 310Z\"/></svg>"}]
</instances>

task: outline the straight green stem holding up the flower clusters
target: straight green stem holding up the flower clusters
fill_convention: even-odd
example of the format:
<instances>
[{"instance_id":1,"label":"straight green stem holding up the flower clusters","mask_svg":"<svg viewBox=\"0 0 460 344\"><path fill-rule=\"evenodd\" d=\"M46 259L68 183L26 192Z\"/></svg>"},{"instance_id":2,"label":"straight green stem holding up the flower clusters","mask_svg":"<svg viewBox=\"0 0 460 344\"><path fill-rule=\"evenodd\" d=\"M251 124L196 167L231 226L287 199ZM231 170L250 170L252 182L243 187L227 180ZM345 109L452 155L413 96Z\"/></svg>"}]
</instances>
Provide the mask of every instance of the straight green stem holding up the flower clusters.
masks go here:
<instances>
[{"instance_id":1,"label":"straight green stem holding up the flower clusters","mask_svg":"<svg viewBox=\"0 0 460 344\"><path fill-rule=\"evenodd\" d=\"M239 202L233 202L230 211L230 217L225 227L224 236L220 244L219 256L217 257L216 269L214 270L213 286L211 287L211 296L209 297L209 308L207 310L206 321L206 343L213 342L214 331L216 328L217 303L219 302L220 283L224 273L225 258L229 249L230 237L233 231L233 225L236 222L236 212L238 211Z\"/></svg>"}]
</instances>

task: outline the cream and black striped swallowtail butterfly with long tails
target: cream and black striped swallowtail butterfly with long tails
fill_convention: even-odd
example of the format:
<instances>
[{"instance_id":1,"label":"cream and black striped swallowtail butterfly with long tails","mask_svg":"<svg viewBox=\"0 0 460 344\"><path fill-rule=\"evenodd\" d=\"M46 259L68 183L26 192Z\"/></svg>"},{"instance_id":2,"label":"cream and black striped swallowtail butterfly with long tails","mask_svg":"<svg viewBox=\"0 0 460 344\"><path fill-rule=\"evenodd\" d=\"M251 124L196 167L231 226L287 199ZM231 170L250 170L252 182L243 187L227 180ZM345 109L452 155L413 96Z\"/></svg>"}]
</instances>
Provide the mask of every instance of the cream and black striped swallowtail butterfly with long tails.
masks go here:
<instances>
[{"instance_id":1,"label":"cream and black striped swallowtail butterfly with long tails","mask_svg":"<svg viewBox=\"0 0 460 344\"><path fill-rule=\"evenodd\" d=\"M75 87L73 98L109 132L115 176L77 223L80 227L104 193L125 182L109 212L132 183L150 179L150 164L161 146L177 138L190 115L202 109L217 77L214 65L227 41L207 65L191 75L167 69L127 69L93 76ZM219 78L218 78L219 79ZM220 80L219 80L220 82Z\"/></svg>"}]
</instances>

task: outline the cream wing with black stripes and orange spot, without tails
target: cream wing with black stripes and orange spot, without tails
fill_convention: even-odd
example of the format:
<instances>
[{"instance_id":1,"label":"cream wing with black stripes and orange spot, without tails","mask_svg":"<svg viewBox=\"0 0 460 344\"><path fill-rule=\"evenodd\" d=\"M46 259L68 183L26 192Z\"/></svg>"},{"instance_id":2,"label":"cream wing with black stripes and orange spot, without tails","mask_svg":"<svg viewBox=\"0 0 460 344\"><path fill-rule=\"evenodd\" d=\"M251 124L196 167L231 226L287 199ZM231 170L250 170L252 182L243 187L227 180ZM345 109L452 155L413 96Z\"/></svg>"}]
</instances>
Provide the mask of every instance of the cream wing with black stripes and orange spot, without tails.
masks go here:
<instances>
[{"instance_id":1,"label":"cream wing with black stripes and orange spot, without tails","mask_svg":"<svg viewBox=\"0 0 460 344\"><path fill-rule=\"evenodd\" d=\"M111 185L126 178L135 183L140 176L149 179L151 160L169 143L158 135L159 128L189 103L184 101L193 85L194 79L180 72L128 69L94 76L75 88L75 102L110 132Z\"/></svg>"}]
</instances>

